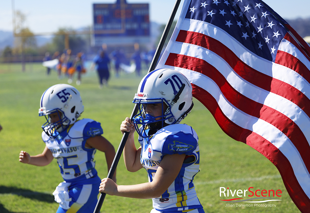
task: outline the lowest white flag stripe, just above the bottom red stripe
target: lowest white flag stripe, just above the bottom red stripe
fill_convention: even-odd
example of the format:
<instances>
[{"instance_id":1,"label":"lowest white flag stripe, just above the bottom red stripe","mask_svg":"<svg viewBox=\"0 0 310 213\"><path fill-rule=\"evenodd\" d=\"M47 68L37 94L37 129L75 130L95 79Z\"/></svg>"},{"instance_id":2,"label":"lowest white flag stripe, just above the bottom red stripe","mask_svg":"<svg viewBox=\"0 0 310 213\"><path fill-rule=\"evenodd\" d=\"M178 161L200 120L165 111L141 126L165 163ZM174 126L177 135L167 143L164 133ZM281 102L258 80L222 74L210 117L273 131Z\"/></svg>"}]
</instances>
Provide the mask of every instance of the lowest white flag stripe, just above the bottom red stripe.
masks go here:
<instances>
[{"instance_id":1,"label":"lowest white flag stripe, just above the bottom red stripe","mask_svg":"<svg viewBox=\"0 0 310 213\"><path fill-rule=\"evenodd\" d=\"M187 78L197 79L196 85L209 92L219 104L220 109L229 120L244 129L255 132L277 147L290 161L294 174L305 194L310 196L310 174L303 160L289 138L271 124L237 111L223 96L219 87L211 79L192 70L178 69Z\"/></svg>"}]
</instances>

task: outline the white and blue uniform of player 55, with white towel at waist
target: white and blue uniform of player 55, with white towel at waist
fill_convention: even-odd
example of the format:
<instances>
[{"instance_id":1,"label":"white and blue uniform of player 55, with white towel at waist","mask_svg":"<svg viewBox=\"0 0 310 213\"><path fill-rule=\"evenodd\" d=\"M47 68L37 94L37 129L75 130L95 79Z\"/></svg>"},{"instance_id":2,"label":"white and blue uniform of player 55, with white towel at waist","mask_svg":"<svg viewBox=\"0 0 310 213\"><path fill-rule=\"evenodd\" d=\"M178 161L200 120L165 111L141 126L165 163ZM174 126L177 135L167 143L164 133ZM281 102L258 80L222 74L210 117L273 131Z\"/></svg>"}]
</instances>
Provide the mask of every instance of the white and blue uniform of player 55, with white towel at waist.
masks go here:
<instances>
[{"instance_id":1,"label":"white and blue uniform of player 55, with white towel at waist","mask_svg":"<svg viewBox=\"0 0 310 213\"><path fill-rule=\"evenodd\" d=\"M101 180L95 169L96 149L85 147L85 143L88 138L101 134L100 123L86 118L57 133L57 138L42 132L42 139L57 159L64 179L53 193L60 204L56 213L94 211Z\"/></svg>"}]
</instances>

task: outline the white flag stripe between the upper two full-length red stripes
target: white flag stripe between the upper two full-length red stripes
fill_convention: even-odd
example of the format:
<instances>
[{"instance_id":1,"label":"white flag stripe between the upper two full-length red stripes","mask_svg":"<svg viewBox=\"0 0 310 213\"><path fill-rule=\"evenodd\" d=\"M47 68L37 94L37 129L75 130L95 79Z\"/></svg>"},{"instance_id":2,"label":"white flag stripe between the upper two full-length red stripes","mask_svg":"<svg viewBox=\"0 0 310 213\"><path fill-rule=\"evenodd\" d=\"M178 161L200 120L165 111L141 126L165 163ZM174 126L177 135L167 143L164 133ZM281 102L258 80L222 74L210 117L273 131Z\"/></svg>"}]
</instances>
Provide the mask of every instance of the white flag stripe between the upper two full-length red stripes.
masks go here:
<instances>
[{"instance_id":1,"label":"white flag stripe between the upper two full-length red stripes","mask_svg":"<svg viewBox=\"0 0 310 213\"><path fill-rule=\"evenodd\" d=\"M236 89L237 92L241 93L242 95L248 97L251 100L254 100L260 104L264 104L289 117L292 121L296 123L297 126L299 126L299 128L305 135L308 143L310 142L310 131L308 130L308 126L310 126L310 118L296 104L281 96L263 90L245 81L235 73L235 71L227 64L224 59L220 58L218 55L208 49L196 45L175 42L175 45L172 49L170 49L170 52L188 55L207 61L227 79L228 83L234 89ZM179 70L179 68L177 67L164 67ZM188 80L191 83L196 84L195 79Z\"/></svg>"}]
</instances>

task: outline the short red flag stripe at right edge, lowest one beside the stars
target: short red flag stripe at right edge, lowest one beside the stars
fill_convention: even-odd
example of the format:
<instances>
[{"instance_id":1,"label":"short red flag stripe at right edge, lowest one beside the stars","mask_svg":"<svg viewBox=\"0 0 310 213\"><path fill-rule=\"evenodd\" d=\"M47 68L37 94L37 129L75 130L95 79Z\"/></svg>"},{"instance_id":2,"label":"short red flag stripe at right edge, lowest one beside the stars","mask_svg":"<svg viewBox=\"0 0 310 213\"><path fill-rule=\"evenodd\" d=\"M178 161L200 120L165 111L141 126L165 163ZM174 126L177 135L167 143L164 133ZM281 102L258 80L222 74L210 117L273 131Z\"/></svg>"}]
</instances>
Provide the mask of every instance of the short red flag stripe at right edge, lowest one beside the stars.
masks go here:
<instances>
[{"instance_id":1,"label":"short red flag stripe at right edge, lowest one beside the stars","mask_svg":"<svg viewBox=\"0 0 310 213\"><path fill-rule=\"evenodd\" d=\"M294 70L299 75L303 76L306 81L310 82L310 70L308 67L290 53L278 50L275 63Z\"/></svg>"}]
</instances>

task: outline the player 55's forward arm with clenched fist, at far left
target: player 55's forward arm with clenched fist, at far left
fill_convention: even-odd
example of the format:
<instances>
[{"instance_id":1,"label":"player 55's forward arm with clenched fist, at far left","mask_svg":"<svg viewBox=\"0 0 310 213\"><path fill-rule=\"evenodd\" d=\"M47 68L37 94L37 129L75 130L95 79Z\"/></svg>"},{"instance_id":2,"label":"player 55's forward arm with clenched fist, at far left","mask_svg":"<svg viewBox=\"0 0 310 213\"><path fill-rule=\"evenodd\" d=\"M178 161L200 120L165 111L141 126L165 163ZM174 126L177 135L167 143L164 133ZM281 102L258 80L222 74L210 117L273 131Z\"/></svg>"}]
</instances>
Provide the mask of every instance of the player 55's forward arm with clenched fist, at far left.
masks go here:
<instances>
[{"instance_id":1,"label":"player 55's forward arm with clenched fist, at far left","mask_svg":"<svg viewBox=\"0 0 310 213\"><path fill-rule=\"evenodd\" d=\"M20 151L19 161L25 164L32 164L35 166L46 166L54 159L51 150L46 146L41 154L30 156L28 152Z\"/></svg>"}]
</instances>

